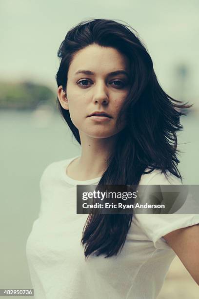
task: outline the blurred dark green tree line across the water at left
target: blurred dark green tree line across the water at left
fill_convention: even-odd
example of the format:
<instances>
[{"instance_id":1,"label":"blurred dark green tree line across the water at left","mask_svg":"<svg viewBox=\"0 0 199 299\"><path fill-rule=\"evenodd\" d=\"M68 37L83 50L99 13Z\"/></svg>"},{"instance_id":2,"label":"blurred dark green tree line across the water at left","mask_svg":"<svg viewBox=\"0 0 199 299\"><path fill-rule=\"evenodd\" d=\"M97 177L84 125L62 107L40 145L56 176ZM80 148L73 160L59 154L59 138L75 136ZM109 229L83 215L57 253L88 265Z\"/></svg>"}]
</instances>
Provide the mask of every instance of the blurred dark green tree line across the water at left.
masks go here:
<instances>
[{"instance_id":1,"label":"blurred dark green tree line across the water at left","mask_svg":"<svg viewBox=\"0 0 199 299\"><path fill-rule=\"evenodd\" d=\"M33 82L0 82L0 109L34 109L40 103L55 108L55 92Z\"/></svg>"}]
</instances>

